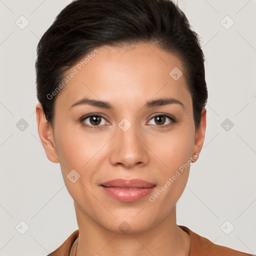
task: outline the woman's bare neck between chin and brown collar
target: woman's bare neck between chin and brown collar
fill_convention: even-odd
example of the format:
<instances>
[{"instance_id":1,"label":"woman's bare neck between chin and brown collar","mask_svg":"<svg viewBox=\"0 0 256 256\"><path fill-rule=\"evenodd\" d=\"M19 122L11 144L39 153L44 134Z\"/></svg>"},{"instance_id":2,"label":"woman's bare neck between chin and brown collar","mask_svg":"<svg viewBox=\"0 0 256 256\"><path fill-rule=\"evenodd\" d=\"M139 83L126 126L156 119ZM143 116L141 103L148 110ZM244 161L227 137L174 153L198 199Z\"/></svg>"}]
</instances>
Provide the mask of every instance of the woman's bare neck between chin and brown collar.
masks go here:
<instances>
[{"instance_id":1,"label":"woman's bare neck between chin and brown collar","mask_svg":"<svg viewBox=\"0 0 256 256\"><path fill-rule=\"evenodd\" d=\"M75 202L74 206L79 228L76 256L189 255L190 237L176 224L175 205L162 221L145 225L143 230L132 231L131 226L126 233L120 232L118 225L115 232L114 221L110 230L84 214Z\"/></svg>"}]
</instances>

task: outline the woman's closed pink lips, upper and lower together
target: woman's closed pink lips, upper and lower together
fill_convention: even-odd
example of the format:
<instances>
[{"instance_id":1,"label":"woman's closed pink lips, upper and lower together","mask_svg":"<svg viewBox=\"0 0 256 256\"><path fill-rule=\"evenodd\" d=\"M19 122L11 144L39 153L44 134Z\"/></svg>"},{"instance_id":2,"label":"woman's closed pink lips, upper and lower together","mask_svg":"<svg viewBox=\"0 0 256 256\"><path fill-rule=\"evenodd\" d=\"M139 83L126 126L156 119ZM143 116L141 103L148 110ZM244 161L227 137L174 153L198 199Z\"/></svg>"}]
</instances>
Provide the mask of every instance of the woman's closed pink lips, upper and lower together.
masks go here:
<instances>
[{"instance_id":1,"label":"woman's closed pink lips, upper and lower together","mask_svg":"<svg viewBox=\"0 0 256 256\"><path fill-rule=\"evenodd\" d=\"M120 201L132 202L149 194L155 184L142 179L112 179L100 186L109 196Z\"/></svg>"}]
</instances>

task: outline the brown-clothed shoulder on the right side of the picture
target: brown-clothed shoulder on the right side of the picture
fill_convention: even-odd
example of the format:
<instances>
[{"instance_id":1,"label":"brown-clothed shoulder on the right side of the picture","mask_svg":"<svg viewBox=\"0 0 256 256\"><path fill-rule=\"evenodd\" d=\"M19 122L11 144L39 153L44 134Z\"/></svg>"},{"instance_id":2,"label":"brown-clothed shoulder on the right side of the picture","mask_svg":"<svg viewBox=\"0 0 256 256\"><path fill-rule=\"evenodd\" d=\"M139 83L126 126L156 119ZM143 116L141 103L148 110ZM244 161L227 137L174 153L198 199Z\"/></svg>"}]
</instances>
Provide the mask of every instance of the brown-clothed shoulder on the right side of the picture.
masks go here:
<instances>
[{"instance_id":1,"label":"brown-clothed shoulder on the right side of the picture","mask_svg":"<svg viewBox=\"0 0 256 256\"><path fill-rule=\"evenodd\" d=\"M209 239L200 236L193 232L186 226L178 225L183 231L187 232L190 236L191 245L189 256L207 255L207 256L252 256L238 250L234 250L222 245L217 245L211 242Z\"/></svg>"}]
</instances>

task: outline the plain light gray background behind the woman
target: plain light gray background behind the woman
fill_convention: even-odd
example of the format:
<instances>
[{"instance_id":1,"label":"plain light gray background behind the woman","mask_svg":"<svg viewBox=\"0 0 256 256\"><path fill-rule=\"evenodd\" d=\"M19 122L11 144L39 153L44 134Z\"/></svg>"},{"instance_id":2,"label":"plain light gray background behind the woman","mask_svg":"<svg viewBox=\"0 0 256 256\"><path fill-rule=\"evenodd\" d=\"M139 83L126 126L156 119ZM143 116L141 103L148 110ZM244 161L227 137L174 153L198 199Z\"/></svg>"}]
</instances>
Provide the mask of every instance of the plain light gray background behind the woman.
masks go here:
<instances>
[{"instance_id":1,"label":"plain light gray background behind the woman","mask_svg":"<svg viewBox=\"0 0 256 256\"><path fill-rule=\"evenodd\" d=\"M1 256L46 255L78 228L59 163L47 159L35 115L36 45L69 2L0 0ZM178 4L202 37L209 98L202 153L177 203L177 223L216 244L256 253L256 0ZM21 15L29 21L24 29L15 24ZM234 21L229 29L226 15ZM16 126L21 118L28 123L23 131ZM234 124L229 130L221 126L226 118ZM22 220L29 226L24 234Z\"/></svg>"}]
</instances>

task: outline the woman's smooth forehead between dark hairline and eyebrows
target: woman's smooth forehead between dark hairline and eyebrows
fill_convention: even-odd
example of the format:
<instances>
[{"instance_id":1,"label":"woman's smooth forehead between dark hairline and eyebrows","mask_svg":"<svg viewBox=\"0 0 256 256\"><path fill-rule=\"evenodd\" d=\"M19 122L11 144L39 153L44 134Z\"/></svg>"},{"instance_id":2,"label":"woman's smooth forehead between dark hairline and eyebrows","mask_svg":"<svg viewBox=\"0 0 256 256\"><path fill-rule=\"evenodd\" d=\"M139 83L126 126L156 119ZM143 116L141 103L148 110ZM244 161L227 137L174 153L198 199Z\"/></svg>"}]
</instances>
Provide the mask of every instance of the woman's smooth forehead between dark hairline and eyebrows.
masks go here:
<instances>
[{"instance_id":1,"label":"woman's smooth forehead between dark hairline and eyebrows","mask_svg":"<svg viewBox=\"0 0 256 256\"><path fill-rule=\"evenodd\" d=\"M178 79L172 76L173 72L183 72L178 56L145 43L130 47L105 45L95 52L81 58L66 73L75 75L62 88L57 105L70 106L84 96L107 100L113 106L139 105L163 96L191 102L184 75Z\"/></svg>"}]
</instances>

